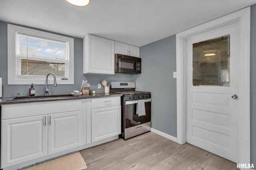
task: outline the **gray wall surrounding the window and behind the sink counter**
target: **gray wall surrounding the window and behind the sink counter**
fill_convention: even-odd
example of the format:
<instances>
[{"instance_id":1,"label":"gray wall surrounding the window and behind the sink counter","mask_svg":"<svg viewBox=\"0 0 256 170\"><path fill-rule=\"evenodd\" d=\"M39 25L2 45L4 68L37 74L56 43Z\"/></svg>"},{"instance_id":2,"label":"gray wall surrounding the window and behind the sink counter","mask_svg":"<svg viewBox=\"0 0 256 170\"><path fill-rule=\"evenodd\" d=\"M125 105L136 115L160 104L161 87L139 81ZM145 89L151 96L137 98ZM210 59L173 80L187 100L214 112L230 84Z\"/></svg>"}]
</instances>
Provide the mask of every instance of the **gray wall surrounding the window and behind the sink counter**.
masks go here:
<instances>
[{"instance_id":1,"label":"gray wall surrounding the window and behind the sink counter","mask_svg":"<svg viewBox=\"0 0 256 170\"><path fill-rule=\"evenodd\" d=\"M22 25L21 25L22 26ZM44 30L42 30L44 31ZM46 31L49 32L49 31ZM52 33L52 32L51 32ZM57 33L58 34L58 33ZM61 35L61 34L59 34ZM64 35L67 36L67 35ZM70 36L68 36L70 37ZM80 90L82 80L88 80L90 83L90 89L95 89L96 93L104 92L104 88L98 89L98 83L106 79L108 81L135 81L138 75L89 75L82 74L83 68L83 39L74 38L74 85L58 85L53 87L49 85L51 94L69 94L74 90ZM28 96L30 85L7 85L7 23L0 21L0 77L4 85L4 97L16 96L20 93L20 96ZM57 82L58 84L58 82ZM44 85L34 85L36 89L36 95L44 95Z\"/></svg>"}]
</instances>

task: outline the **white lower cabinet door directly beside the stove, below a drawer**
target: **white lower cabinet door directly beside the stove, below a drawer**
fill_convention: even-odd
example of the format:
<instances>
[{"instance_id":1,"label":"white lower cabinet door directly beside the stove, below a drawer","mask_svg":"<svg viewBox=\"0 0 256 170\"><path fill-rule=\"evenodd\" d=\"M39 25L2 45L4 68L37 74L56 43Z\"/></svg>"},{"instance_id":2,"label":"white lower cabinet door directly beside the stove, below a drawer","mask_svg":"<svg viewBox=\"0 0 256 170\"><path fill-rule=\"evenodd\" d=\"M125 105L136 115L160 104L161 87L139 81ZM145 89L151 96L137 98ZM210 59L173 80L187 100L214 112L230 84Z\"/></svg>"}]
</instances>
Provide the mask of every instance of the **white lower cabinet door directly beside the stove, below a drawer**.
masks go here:
<instances>
[{"instance_id":1,"label":"white lower cabinet door directly beside the stove, below a drawer","mask_svg":"<svg viewBox=\"0 0 256 170\"><path fill-rule=\"evenodd\" d=\"M121 134L121 106L92 109L92 142Z\"/></svg>"}]
</instances>

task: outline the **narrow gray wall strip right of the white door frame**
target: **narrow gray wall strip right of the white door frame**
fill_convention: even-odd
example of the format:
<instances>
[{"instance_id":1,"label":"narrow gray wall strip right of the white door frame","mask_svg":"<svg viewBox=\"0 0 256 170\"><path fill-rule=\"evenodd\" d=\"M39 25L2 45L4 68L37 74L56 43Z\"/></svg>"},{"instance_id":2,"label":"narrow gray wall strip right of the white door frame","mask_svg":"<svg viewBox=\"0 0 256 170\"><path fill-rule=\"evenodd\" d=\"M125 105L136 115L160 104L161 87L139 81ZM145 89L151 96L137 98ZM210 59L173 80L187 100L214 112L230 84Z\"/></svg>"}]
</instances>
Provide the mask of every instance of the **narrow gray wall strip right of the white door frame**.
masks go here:
<instances>
[{"instance_id":1,"label":"narrow gray wall strip right of the white door frame","mask_svg":"<svg viewBox=\"0 0 256 170\"><path fill-rule=\"evenodd\" d=\"M256 5L251 6L251 163L256 164ZM254 168L255 169L255 168Z\"/></svg>"}]
</instances>

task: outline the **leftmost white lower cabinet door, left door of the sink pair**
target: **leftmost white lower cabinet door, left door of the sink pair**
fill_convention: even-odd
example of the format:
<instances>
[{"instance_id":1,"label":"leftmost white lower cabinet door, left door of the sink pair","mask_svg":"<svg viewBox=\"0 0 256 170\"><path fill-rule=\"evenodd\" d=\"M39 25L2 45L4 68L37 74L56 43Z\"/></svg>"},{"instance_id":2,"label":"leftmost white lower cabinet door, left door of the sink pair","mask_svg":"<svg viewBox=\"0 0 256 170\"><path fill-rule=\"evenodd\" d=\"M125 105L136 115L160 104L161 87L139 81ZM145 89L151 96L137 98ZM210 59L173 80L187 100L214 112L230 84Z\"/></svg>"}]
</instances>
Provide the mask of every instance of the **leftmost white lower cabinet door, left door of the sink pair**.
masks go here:
<instances>
[{"instance_id":1,"label":"leftmost white lower cabinet door, left door of the sink pair","mask_svg":"<svg viewBox=\"0 0 256 170\"><path fill-rule=\"evenodd\" d=\"M47 155L46 115L2 120L1 168Z\"/></svg>"}]
</instances>

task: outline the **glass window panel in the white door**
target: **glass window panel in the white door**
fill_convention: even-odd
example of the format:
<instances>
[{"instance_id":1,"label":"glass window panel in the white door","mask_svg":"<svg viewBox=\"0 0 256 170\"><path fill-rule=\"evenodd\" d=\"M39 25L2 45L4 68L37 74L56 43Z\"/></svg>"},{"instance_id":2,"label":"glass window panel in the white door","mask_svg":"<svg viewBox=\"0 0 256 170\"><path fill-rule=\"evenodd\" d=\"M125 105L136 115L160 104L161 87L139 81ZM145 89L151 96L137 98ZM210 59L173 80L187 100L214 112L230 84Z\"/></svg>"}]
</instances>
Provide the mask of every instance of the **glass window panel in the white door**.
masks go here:
<instances>
[{"instance_id":1,"label":"glass window panel in the white door","mask_svg":"<svg viewBox=\"0 0 256 170\"><path fill-rule=\"evenodd\" d=\"M193 44L193 86L230 86L230 35Z\"/></svg>"}]
</instances>

